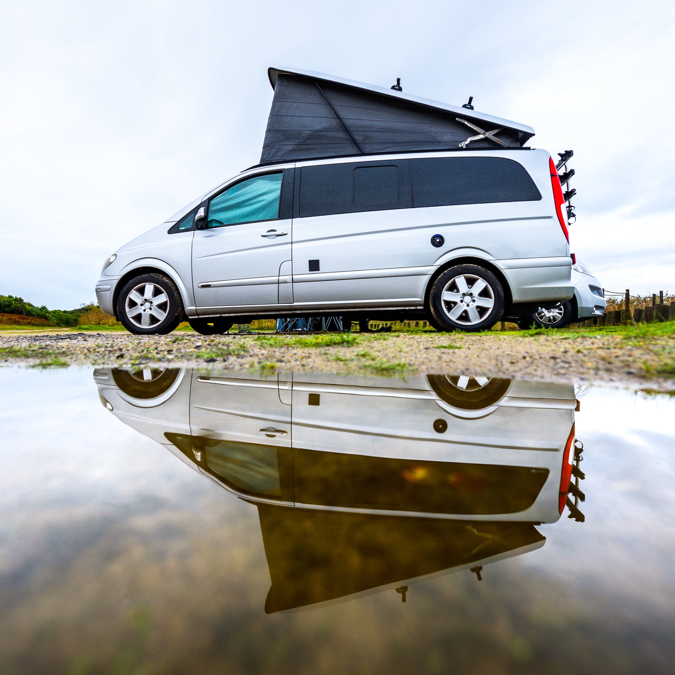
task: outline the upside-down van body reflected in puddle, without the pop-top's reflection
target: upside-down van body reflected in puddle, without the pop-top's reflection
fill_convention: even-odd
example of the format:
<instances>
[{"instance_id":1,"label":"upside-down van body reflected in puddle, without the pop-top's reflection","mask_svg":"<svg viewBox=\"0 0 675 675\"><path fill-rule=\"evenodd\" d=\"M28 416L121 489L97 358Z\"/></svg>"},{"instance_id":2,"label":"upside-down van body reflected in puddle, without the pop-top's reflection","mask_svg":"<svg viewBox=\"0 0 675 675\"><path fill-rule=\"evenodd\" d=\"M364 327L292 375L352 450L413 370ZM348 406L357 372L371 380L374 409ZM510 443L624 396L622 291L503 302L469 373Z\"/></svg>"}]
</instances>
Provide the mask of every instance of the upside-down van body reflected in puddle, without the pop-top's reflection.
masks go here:
<instances>
[{"instance_id":1,"label":"upside-down van body reflected in puddle, without the pop-top's reflection","mask_svg":"<svg viewBox=\"0 0 675 675\"><path fill-rule=\"evenodd\" d=\"M560 517L574 435L571 385L96 373L121 419L252 502L475 520Z\"/></svg>"}]
</instances>

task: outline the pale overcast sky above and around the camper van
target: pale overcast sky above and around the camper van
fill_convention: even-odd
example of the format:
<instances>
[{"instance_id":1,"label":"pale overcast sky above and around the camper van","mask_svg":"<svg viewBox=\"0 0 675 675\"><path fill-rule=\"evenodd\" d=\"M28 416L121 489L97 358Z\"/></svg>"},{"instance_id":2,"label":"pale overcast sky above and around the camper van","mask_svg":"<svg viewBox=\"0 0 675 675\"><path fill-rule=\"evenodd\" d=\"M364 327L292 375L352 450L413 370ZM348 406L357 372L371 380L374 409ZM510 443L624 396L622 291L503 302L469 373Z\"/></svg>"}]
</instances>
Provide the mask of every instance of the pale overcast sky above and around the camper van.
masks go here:
<instances>
[{"instance_id":1,"label":"pale overcast sky above and around the camper van","mask_svg":"<svg viewBox=\"0 0 675 675\"><path fill-rule=\"evenodd\" d=\"M103 259L259 161L270 65L529 124L572 148L572 251L675 291L675 9L637 2L0 1L0 294L93 300Z\"/></svg>"}]
</instances>

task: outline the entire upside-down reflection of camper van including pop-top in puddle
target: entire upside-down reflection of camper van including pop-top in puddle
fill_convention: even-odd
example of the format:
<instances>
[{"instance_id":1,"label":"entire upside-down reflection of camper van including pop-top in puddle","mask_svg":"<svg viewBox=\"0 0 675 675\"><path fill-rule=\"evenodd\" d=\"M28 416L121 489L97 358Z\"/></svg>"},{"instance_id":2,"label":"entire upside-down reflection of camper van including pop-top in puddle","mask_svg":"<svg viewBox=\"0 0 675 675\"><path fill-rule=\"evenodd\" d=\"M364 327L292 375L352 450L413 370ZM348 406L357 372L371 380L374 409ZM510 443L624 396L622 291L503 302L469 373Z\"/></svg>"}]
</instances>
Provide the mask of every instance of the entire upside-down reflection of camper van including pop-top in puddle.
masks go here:
<instances>
[{"instance_id":1,"label":"entire upside-down reflection of camper van including pop-top in puddle","mask_svg":"<svg viewBox=\"0 0 675 675\"><path fill-rule=\"evenodd\" d=\"M94 380L122 421L258 505L270 612L524 553L564 508L571 385L149 368Z\"/></svg>"}]
</instances>

